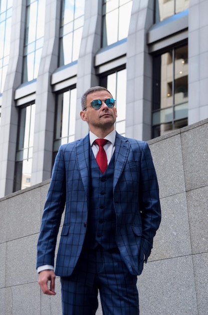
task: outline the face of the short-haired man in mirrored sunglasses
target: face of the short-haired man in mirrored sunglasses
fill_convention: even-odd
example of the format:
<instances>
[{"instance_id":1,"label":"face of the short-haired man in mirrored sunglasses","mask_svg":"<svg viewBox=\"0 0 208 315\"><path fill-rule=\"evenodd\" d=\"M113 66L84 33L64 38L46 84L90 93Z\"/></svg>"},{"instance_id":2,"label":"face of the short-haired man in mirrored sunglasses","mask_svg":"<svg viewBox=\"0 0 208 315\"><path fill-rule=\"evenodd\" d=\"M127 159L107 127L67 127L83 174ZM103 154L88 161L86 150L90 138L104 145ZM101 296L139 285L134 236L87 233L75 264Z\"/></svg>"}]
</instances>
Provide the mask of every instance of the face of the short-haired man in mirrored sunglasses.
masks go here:
<instances>
[{"instance_id":1,"label":"face of the short-haired man in mirrored sunglasses","mask_svg":"<svg viewBox=\"0 0 208 315\"><path fill-rule=\"evenodd\" d=\"M105 102L102 102L100 109L94 109L91 102L94 100L107 100L112 98L112 95L107 91L96 91L87 96L87 108L81 111L80 115L82 120L86 121L89 129L95 133L96 129L108 130L111 132L114 129L114 123L117 117L116 108L108 108Z\"/></svg>"}]
</instances>

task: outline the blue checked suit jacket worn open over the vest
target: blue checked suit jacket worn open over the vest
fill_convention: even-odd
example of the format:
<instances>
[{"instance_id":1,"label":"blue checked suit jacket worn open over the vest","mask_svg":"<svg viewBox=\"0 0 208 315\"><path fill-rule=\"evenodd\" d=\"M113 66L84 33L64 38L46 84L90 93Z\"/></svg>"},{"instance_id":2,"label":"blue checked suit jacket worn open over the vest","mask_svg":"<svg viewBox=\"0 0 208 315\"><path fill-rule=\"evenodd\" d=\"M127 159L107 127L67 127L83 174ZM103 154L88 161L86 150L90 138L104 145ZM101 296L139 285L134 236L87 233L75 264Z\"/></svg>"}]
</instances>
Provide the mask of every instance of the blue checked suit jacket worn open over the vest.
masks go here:
<instances>
[{"instance_id":1,"label":"blue checked suit jacket worn open over the vest","mask_svg":"<svg viewBox=\"0 0 208 315\"><path fill-rule=\"evenodd\" d=\"M57 234L66 206L56 275L71 275L80 256L89 206L89 135L57 153L38 240L37 267L54 265ZM116 133L113 204L116 243L129 271L139 275L150 255L161 212L155 169L147 142Z\"/></svg>"}]
</instances>

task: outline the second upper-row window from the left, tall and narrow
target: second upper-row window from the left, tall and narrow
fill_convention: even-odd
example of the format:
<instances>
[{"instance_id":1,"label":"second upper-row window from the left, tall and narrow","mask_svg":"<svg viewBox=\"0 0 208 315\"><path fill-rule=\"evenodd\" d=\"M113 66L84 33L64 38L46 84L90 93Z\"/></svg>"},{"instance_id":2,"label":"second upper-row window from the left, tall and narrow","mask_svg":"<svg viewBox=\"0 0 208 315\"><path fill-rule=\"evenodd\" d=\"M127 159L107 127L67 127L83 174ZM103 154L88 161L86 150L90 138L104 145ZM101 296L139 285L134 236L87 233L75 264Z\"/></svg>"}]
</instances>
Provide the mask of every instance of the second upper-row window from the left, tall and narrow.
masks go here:
<instances>
[{"instance_id":1,"label":"second upper-row window from the left, tall and narrow","mask_svg":"<svg viewBox=\"0 0 208 315\"><path fill-rule=\"evenodd\" d=\"M44 42L45 0L27 0L23 82L38 76Z\"/></svg>"}]
</instances>

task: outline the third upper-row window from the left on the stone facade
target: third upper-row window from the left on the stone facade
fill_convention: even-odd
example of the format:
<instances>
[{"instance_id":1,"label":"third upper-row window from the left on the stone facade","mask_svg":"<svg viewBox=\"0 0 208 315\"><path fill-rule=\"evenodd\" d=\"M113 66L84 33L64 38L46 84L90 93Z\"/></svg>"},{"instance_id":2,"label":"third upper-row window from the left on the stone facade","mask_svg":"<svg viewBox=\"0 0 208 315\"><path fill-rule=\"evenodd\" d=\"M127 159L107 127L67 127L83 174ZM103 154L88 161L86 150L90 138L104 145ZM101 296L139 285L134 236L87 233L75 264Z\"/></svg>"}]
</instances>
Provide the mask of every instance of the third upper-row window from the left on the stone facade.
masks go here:
<instances>
[{"instance_id":1,"label":"third upper-row window from the left on the stone facade","mask_svg":"<svg viewBox=\"0 0 208 315\"><path fill-rule=\"evenodd\" d=\"M59 66L78 60L85 0L62 0Z\"/></svg>"}]
</instances>

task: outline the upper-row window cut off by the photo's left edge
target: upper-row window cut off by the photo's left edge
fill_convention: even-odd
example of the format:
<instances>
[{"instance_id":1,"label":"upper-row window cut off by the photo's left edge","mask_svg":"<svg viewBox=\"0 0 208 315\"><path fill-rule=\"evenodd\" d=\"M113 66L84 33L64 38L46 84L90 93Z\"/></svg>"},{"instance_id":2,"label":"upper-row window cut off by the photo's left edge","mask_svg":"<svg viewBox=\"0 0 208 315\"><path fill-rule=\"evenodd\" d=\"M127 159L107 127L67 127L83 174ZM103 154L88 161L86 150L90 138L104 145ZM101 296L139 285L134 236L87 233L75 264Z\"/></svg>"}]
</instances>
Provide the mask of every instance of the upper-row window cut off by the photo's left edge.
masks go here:
<instances>
[{"instance_id":1,"label":"upper-row window cut off by the photo's left edge","mask_svg":"<svg viewBox=\"0 0 208 315\"><path fill-rule=\"evenodd\" d=\"M10 56L12 0L0 1L0 94L3 93Z\"/></svg>"}]
</instances>

